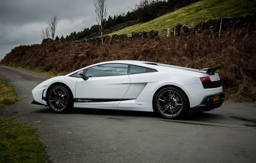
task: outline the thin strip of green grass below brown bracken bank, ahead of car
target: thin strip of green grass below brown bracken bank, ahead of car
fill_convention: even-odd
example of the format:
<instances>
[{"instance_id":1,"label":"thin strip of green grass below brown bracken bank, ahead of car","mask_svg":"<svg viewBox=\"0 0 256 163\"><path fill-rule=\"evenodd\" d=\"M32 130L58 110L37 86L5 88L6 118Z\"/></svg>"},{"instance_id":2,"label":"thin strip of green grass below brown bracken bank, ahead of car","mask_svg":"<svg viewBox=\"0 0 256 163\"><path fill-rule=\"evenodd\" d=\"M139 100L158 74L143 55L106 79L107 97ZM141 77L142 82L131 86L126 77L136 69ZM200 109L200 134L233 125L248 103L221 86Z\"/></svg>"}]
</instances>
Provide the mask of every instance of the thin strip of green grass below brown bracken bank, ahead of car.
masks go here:
<instances>
[{"instance_id":1,"label":"thin strip of green grass below brown bracken bank, ahead of car","mask_svg":"<svg viewBox=\"0 0 256 163\"><path fill-rule=\"evenodd\" d=\"M15 68L18 68L18 69L23 69L23 70L26 70L26 71L35 72L35 73L40 74L40 75L45 75L45 76L48 76L48 77L55 77L55 76L67 74L65 72L59 72L59 73L44 72L44 71L41 71L40 69L31 69L29 66L17 66L17 65L14 65L14 64L1 64L0 66L15 67Z\"/></svg>"}]
</instances>

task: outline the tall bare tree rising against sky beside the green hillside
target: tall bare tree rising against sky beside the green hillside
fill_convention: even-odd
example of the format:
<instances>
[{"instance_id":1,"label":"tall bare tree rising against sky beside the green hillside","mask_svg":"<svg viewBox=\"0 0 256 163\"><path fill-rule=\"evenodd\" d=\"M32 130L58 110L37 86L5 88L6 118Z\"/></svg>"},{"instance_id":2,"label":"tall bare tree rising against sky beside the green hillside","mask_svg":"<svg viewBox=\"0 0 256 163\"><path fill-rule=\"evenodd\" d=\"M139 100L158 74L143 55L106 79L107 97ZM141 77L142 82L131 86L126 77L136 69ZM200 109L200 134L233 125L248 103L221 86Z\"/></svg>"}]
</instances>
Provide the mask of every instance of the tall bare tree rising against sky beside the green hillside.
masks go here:
<instances>
[{"instance_id":1,"label":"tall bare tree rising against sky beside the green hillside","mask_svg":"<svg viewBox=\"0 0 256 163\"><path fill-rule=\"evenodd\" d=\"M107 17L107 0L93 0L96 21L101 32L101 41L103 45L103 21Z\"/></svg>"}]
</instances>

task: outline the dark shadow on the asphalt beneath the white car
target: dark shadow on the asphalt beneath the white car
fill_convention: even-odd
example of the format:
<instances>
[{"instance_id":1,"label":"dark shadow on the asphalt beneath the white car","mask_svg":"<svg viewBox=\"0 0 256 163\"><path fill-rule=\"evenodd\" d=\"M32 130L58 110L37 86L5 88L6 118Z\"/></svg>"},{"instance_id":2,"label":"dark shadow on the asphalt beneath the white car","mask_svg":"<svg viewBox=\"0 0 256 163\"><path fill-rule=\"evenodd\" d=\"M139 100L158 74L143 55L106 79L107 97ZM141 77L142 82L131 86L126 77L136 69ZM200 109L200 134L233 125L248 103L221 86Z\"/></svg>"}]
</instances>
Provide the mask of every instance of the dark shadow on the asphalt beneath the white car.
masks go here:
<instances>
[{"instance_id":1,"label":"dark shadow on the asphalt beneath the white car","mask_svg":"<svg viewBox=\"0 0 256 163\"><path fill-rule=\"evenodd\" d=\"M37 109L37 113L45 113L45 114L52 114L53 111L49 109L49 107L43 109ZM56 113L58 114L58 113ZM131 117L131 118L160 118L154 112L139 112L139 111L124 111L124 110L111 110L111 109L84 109L84 108L73 108L71 112L67 114L84 114L84 115L107 115L107 116L123 116L123 117ZM194 113L186 116L186 118L178 119L183 121L216 121L218 119L225 118L223 115L210 113L210 112L201 112L201 113Z\"/></svg>"}]
</instances>

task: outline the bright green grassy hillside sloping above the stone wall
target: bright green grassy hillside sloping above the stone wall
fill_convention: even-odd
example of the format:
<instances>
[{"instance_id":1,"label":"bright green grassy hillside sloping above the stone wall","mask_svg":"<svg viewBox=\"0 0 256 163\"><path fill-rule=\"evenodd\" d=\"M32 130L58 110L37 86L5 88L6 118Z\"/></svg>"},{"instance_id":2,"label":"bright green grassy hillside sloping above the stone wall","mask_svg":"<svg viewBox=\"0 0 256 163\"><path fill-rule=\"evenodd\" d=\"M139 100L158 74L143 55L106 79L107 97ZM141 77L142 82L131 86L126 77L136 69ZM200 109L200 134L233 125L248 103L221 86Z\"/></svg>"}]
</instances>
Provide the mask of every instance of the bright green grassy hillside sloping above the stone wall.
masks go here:
<instances>
[{"instance_id":1,"label":"bright green grassy hillside sloping above the stone wall","mask_svg":"<svg viewBox=\"0 0 256 163\"><path fill-rule=\"evenodd\" d=\"M158 17L152 21L136 24L108 35L131 35L132 32L150 30L161 31L164 29L166 30L168 27L172 28L179 23L185 24L187 27L195 27L199 22L209 19L247 16L255 13L256 0L202 0Z\"/></svg>"}]
</instances>

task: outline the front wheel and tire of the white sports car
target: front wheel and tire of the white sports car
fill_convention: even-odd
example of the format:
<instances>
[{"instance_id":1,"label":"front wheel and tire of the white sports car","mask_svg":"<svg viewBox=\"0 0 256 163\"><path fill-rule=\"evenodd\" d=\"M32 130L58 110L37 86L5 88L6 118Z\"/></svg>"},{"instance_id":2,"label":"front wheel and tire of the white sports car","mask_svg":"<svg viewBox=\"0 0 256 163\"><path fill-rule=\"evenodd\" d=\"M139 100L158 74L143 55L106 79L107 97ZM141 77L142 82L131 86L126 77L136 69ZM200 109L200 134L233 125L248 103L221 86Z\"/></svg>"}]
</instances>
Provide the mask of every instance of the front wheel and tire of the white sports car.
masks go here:
<instances>
[{"instance_id":1,"label":"front wheel and tire of the white sports car","mask_svg":"<svg viewBox=\"0 0 256 163\"><path fill-rule=\"evenodd\" d=\"M47 94L47 105L55 113L66 113L73 108L70 92L62 85L55 85Z\"/></svg>"}]
</instances>

